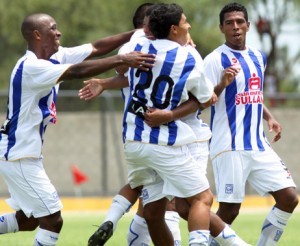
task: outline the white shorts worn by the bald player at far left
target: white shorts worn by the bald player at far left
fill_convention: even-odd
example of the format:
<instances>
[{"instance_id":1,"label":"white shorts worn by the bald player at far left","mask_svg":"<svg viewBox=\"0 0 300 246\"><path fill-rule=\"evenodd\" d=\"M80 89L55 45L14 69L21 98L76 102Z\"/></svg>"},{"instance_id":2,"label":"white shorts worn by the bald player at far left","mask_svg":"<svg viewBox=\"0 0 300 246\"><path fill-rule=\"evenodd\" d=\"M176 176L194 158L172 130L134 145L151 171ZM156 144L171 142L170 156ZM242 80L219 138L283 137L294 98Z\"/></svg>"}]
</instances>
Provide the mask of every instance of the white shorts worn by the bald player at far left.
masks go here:
<instances>
[{"instance_id":1,"label":"white shorts worn by the bald player at far left","mask_svg":"<svg viewBox=\"0 0 300 246\"><path fill-rule=\"evenodd\" d=\"M8 205L27 217L44 217L62 209L55 187L50 182L42 159L0 160L0 175L8 186Z\"/></svg>"}]
</instances>

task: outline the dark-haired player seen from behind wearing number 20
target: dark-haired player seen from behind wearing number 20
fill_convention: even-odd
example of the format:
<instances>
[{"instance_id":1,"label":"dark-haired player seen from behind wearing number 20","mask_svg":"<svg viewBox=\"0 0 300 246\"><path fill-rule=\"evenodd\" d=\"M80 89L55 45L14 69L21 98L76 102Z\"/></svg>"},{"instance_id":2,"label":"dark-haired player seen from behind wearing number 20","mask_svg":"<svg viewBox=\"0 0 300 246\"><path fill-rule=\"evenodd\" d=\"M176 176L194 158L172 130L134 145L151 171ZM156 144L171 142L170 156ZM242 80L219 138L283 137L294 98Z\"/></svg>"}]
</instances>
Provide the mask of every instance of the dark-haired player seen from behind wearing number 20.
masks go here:
<instances>
[{"instance_id":1,"label":"dark-haired player seen from behind wearing number 20","mask_svg":"<svg viewBox=\"0 0 300 246\"><path fill-rule=\"evenodd\" d=\"M186 146L195 135L181 121L151 128L144 123L143 114L152 106L175 108L188 100L188 92L200 103L209 103L213 90L202 77L196 58L181 46L190 28L181 7L156 6L149 27L156 40L137 44L135 50L155 53L156 66L149 73L129 71L132 93L123 124L129 183L131 188L143 186L143 215L155 245L174 245L164 219L168 199L174 196L186 197L191 204L190 245L207 245L212 194ZM196 83L199 80L201 85Z\"/></svg>"}]
</instances>

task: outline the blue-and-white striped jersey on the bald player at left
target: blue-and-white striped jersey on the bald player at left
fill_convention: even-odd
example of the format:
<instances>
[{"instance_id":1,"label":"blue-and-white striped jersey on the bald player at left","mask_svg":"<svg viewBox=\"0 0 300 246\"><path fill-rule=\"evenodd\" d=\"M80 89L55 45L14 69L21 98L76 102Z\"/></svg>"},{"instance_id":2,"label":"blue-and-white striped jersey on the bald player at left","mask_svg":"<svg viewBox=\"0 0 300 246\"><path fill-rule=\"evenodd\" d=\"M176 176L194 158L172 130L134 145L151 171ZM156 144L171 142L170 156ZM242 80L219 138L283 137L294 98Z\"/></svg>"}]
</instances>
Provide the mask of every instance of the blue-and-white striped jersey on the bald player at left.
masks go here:
<instances>
[{"instance_id":1,"label":"blue-and-white striped jersey on the bald player at left","mask_svg":"<svg viewBox=\"0 0 300 246\"><path fill-rule=\"evenodd\" d=\"M58 79L72 64L86 59L92 45L60 47L49 61L27 51L13 69L6 121L0 132L0 159L40 158L48 123L56 122Z\"/></svg>"}]
</instances>

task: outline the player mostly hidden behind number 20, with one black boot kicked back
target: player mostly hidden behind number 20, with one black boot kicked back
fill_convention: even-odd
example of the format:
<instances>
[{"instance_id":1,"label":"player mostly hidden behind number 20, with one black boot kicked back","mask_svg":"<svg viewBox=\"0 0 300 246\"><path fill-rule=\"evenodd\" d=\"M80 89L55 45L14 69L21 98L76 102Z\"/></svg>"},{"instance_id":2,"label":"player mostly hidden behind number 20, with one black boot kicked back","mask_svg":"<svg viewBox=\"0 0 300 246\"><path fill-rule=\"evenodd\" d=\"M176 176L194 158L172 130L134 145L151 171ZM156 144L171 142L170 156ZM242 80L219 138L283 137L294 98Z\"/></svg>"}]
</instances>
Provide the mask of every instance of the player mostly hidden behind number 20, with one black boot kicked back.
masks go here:
<instances>
[{"instance_id":1,"label":"player mostly hidden behind number 20, with one black boot kicked back","mask_svg":"<svg viewBox=\"0 0 300 246\"><path fill-rule=\"evenodd\" d=\"M150 13L150 7L153 7L154 4L151 3L143 3L141 4L135 11L133 16L133 26L137 31L132 35L130 43L136 43L140 38L149 38L153 39L151 33L148 30L147 23L145 23L144 19L148 19ZM146 18L144 18L146 16ZM144 28L144 29L143 29ZM127 53L128 49L130 51L130 43L125 44L120 50L120 53ZM91 97L87 98L84 94L85 90L80 91L80 95L82 99L92 99L103 92L105 89L113 89L113 88L122 88L122 95L124 96L124 102L126 108L127 98L129 97L130 90L128 87L128 79L127 79L127 71L128 67L122 66L116 68L118 73L112 79L91 79L88 81L89 85L87 89L92 89L92 84L96 83L97 92L94 92ZM123 75L126 75L126 78ZM122 78L125 80L122 81ZM108 87L107 87L108 86ZM95 89L95 90L96 90ZM125 185L121 188L120 192L113 198L112 205L107 213L107 216L104 220L104 223L97 229L97 231L90 237L88 244L89 245L103 245L111 236L113 231L115 231L117 227L117 222L123 216L123 214L129 211L129 208L136 202L138 196L140 195L140 190L133 190L130 188L129 184ZM174 240L179 245L181 241L180 237L180 229L179 229L179 215L175 211L170 211L172 205L169 205L169 209L166 212L165 218L167 224L172 232ZM130 245L150 245L151 239L149 236L148 228L146 221L143 218L143 210L141 204L139 204L139 209L137 214L134 216L134 221L131 223L127 241ZM136 226L137 223L137 226ZM138 236L137 236L138 235Z\"/></svg>"}]
</instances>

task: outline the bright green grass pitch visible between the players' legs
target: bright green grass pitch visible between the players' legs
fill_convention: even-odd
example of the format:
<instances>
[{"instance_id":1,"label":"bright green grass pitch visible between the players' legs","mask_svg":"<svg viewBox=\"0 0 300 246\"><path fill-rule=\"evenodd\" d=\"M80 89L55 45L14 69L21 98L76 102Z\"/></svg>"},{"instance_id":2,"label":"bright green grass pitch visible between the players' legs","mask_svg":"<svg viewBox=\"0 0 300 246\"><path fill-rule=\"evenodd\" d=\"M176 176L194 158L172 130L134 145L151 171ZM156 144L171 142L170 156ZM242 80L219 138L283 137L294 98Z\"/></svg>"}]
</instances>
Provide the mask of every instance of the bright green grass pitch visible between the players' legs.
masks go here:
<instances>
[{"instance_id":1,"label":"bright green grass pitch visible between the players' legs","mask_svg":"<svg viewBox=\"0 0 300 246\"><path fill-rule=\"evenodd\" d=\"M261 224L267 212L241 212L234 222L233 228L248 243L255 245L259 237ZM106 244L107 246L127 245L126 234L133 214L126 214L118 224L113 237ZM63 213L64 226L60 234L58 246L83 246L96 230L93 225L99 224L104 219L104 214L97 212L66 212ZM185 221L181 221L182 246L188 245L188 232ZM279 246L300 245L300 211L298 210L291 217L285 229ZM0 236L1 246L32 246L35 232L19 232Z\"/></svg>"}]
</instances>

